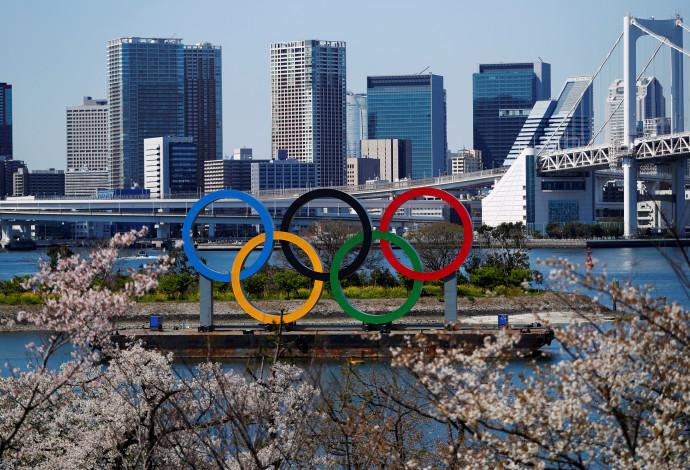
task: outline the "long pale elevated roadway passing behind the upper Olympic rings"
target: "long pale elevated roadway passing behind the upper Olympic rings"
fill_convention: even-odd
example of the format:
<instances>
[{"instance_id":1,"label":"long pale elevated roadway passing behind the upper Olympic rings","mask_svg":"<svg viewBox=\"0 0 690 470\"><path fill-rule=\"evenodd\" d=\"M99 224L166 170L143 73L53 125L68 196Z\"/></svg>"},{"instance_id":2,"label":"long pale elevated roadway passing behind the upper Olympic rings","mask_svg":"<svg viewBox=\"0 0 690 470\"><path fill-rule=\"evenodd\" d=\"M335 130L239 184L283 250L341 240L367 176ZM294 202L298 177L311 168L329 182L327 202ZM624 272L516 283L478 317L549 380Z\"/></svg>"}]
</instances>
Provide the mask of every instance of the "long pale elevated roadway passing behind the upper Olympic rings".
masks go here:
<instances>
[{"instance_id":1,"label":"long pale elevated roadway passing behind the upper Olympic rings","mask_svg":"<svg viewBox=\"0 0 690 470\"><path fill-rule=\"evenodd\" d=\"M409 180L395 183L337 187L359 199L372 218L379 222L390 200L408 189L435 187L453 192L487 186L505 174L506 169L494 169L466 173L463 175L441 176L422 180ZM310 189L282 189L253 193L274 216L276 223L287 207L301 194ZM184 218L197 201L194 199L32 199L10 198L0 201L0 219L9 222L61 221L61 222L142 222L155 224L183 223ZM398 210L394 219L397 225L439 220L438 209L443 201L413 200ZM349 206L335 199L320 199L305 207L316 209L316 217L299 218L302 223L323 217L352 217ZM244 213L228 214L242 211ZM223 212L226 212L223 214ZM260 224L260 219L249 210L247 204L238 200L224 199L209 204L207 211L197 218L198 223L215 224Z\"/></svg>"}]
</instances>

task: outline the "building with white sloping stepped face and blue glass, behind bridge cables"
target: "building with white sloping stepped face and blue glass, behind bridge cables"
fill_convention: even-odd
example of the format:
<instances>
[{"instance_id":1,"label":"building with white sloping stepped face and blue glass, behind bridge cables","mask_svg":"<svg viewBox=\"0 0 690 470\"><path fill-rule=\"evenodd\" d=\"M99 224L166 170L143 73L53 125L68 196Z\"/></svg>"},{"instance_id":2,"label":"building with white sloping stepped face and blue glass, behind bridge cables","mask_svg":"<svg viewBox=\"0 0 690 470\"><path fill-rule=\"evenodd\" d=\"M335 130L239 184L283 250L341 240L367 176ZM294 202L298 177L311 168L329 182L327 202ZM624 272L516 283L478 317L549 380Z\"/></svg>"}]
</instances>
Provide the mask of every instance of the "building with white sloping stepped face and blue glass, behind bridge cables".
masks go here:
<instances>
[{"instance_id":1,"label":"building with white sloping stepped face and blue glass, behind bridge cables","mask_svg":"<svg viewBox=\"0 0 690 470\"><path fill-rule=\"evenodd\" d=\"M569 77L558 99L534 104L505 160L511 165L526 148L556 150L589 144L594 127L591 77ZM483 157L483 154L482 154ZM485 163L486 166L486 163Z\"/></svg>"}]
</instances>

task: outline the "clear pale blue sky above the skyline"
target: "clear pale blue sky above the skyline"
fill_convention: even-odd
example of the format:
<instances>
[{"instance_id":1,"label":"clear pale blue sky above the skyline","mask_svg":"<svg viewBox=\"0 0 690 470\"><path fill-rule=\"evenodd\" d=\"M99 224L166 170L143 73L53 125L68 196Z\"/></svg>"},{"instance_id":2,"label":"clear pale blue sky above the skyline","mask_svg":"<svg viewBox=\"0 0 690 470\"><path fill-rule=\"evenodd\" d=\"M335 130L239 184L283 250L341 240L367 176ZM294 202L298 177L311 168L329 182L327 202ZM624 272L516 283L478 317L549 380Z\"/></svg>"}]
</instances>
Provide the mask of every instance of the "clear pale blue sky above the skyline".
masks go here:
<instances>
[{"instance_id":1,"label":"clear pale blue sky above the skyline","mask_svg":"<svg viewBox=\"0 0 690 470\"><path fill-rule=\"evenodd\" d=\"M65 107L81 104L85 95L106 97L109 39L175 36L186 44L219 44L224 152L252 147L255 157L267 158L269 44L339 40L347 43L347 88L354 92L366 91L367 75L417 73L427 66L443 75L448 144L457 150L472 147L472 74L479 63L541 57L551 63L556 95L566 77L594 73L621 33L626 12L660 19L676 11L690 15L685 5L681 0L4 0L0 82L13 87L15 158L31 169L64 169ZM684 40L690 49L690 35ZM640 40L638 64L656 48L652 41ZM650 71L663 76L668 51L660 56ZM606 88L621 75L621 57L616 53L595 82L595 102L605 99ZM686 67L686 82L689 75ZM668 97L663 78L662 85ZM685 107L690 114L688 103Z\"/></svg>"}]
</instances>

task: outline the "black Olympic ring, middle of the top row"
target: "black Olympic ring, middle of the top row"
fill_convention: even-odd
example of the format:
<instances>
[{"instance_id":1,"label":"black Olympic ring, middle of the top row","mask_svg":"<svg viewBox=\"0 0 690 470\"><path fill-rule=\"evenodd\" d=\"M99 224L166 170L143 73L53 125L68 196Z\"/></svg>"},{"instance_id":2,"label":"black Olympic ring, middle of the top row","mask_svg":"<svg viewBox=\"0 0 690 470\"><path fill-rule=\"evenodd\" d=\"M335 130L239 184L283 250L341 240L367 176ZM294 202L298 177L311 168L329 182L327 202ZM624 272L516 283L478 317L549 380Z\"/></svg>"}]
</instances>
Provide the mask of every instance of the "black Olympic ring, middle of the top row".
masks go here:
<instances>
[{"instance_id":1,"label":"black Olympic ring, middle of the top row","mask_svg":"<svg viewBox=\"0 0 690 470\"><path fill-rule=\"evenodd\" d=\"M302 206L304 206L307 202L319 198L332 198L343 201L355 210L355 212L359 216L360 222L362 223L362 231L364 233L362 248L359 251L359 254L352 261L352 263L348 264L343 269L338 271L338 279L343 279L357 271L362 266L362 264L364 264L364 261L369 255L369 249L371 248L372 243L371 220L369 219L369 214L367 213L366 209L364 209L364 206L362 206L362 204L360 204L359 201L357 201L357 199L355 199L347 193L338 191L337 189L321 188L309 191L308 193L298 197L295 200L295 202L290 204L290 207L288 207L288 210L285 212L285 215L283 216L283 222L280 226L280 230L283 232L289 232L290 226L292 225L292 220L297 215L297 211L299 211L302 208ZM299 258L297 258L297 256L295 255L295 252L292 250L292 244L290 242L286 240L281 240L280 246L283 248L285 258L287 258L288 262L295 268L295 270L297 270L297 272L315 281L329 280L329 273L318 273L302 264Z\"/></svg>"}]
</instances>

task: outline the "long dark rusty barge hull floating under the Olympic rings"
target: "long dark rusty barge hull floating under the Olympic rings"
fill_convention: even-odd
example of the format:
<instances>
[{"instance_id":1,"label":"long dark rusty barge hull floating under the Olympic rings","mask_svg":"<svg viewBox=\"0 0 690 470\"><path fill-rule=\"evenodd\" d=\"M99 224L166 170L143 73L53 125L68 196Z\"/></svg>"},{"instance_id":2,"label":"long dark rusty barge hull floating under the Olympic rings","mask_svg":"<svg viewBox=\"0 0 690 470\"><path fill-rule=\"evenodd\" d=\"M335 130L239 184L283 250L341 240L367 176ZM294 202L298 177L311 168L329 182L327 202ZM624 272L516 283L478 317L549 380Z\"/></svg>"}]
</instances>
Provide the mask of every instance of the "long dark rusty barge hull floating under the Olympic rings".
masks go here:
<instances>
[{"instance_id":1,"label":"long dark rusty barge hull floating under the Olympic rings","mask_svg":"<svg viewBox=\"0 0 690 470\"><path fill-rule=\"evenodd\" d=\"M535 353L551 344L553 330L544 327L508 329L518 335L514 344L516 355ZM404 329L372 333L364 330L299 330L282 333L281 357L291 358L351 358L372 359L391 357L391 348L409 348L415 335L424 336L429 344L441 347L461 347L472 351L484 339L498 332L496 328L461 329ZM123 331L114 336L121 346L141 341L145 347L172 352L179 358L251 358L272 357L278 335L263 330L221 330L196 332L177 331Z\"/></svg>"}]
</instances>

